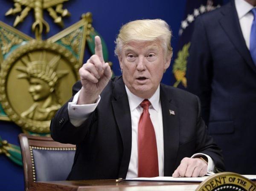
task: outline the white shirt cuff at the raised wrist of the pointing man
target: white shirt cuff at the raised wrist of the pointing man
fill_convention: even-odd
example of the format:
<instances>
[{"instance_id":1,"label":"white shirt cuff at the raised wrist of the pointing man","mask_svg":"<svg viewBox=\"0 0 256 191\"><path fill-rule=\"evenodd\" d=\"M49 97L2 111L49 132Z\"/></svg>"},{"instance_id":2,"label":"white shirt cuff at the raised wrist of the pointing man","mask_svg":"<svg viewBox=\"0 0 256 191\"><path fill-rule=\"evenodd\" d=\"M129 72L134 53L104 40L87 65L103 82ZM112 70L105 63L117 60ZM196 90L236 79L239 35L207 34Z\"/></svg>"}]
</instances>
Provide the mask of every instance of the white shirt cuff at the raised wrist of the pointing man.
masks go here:
<instances>
[{"instance_id":1,"label":"white shirt cuff at the raised wrist of the pointing man","mask_svg":"<svg viewBox=\"0 0 256 191\"><path fill-rule=\"evenodd\" d=\"M96 103L77 105L80 91L81 90L79 90L75 94L72 102L69 102L67 105L67 111L68 111L68 116L70 118L70 123L72 123L72 125L76 127L79 127L82 123L84 123L84 121L88 118L88 116L96 109L100 101L100 96L99 96L98 99L96 100Z\"/></svg>"}]
</instances>

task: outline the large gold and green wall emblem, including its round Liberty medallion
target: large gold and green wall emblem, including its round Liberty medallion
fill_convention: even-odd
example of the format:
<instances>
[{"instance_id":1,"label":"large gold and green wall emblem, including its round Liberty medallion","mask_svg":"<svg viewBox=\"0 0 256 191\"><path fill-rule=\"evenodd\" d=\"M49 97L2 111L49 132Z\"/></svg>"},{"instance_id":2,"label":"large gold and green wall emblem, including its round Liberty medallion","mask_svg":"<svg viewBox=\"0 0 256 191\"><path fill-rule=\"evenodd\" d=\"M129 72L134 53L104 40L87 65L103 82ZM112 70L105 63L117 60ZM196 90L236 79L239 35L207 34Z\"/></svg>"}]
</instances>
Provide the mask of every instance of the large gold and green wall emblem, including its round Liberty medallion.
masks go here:
<instances>
[{"instance_id":1,"label":"large gold and green wall emblem, including its round Liberty medallion","mask_svg":"<svg viewBox=\"0 0 256 191\"><path fill-rule=\"evenodd\" d=\"M33 9L36 40L0 22L1 106L10 120L30 134L49 133L50 120L71 97L71 87L79 80L85 42L94 32L92 15L87 13L73 26L41 40L42 31L49 31L43 10L63 26L61 17L69 15L62 9L64 1L14 0L14 8L6 15L20 13L16 26Z\"/></svg>"}]
</instances>

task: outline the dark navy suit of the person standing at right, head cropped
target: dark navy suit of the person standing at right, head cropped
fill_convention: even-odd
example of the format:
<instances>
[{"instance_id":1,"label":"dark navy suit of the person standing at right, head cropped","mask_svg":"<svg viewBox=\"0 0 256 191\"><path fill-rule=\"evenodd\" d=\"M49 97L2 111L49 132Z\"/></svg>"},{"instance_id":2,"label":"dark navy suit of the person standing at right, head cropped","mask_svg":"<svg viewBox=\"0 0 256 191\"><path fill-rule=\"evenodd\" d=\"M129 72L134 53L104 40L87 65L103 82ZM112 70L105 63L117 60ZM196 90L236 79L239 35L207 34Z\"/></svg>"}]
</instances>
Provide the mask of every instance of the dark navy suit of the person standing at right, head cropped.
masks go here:
<instances>
[{"instance_id":1,"label":"dark navy suit of the person standing at right, head cropped","mask_svg":"<svg viewBox=\"0 0 256 191\"><path fill-rule=\"evenodd\" d=\"M188 90L201 99L202 117L223 150L227 171L256 174L256 66L234 1L198 17L194 27Z\"/></svg>"}]
</instances>

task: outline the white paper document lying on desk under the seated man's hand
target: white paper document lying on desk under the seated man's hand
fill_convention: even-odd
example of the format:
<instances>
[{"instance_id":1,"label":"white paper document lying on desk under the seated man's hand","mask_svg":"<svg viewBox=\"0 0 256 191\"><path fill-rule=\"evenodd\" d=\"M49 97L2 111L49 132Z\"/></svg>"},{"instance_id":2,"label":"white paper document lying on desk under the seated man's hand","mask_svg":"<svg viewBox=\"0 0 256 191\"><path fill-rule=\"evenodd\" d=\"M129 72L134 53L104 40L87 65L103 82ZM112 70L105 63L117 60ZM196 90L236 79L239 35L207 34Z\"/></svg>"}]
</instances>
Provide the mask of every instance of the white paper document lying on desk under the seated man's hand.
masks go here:
<instances>
[{"instance_id":1,"label":"white paper document lying on desk under the seated man's hand","mask_svg":"<svg viewBox=\"0 0 256 191\"><path fill-rule=\"evenodd\" d=\"M250 180L256 180L256 175L242 175ZM204 177L152 177L152 178L128 178L125 180L128 181L164 181L164 182L203 182L205 179L207 179L209 176Z\"/></svg>"}]
</instances>

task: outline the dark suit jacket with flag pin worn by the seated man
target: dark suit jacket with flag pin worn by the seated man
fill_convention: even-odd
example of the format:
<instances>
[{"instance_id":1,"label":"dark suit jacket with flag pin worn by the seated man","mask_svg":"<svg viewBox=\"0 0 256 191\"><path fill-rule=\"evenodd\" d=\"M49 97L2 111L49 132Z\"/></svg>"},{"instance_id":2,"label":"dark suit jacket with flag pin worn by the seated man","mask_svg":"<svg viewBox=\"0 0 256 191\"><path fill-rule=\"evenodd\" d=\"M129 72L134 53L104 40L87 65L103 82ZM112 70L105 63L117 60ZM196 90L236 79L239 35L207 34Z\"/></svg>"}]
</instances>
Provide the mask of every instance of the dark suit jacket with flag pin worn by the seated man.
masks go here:
<instances>
[{"instance_id":1,"label":"dark suit jacket with flag pin worn by the seated man","mask_svg":"<svg viewBox=\"0 0 256 191\"><path fill-rule=\"evenodd\" d=\"M74 94L81 83L74 85ZM218 168L224 168L220 149L207 135L200 117L198 97L160 85L163 112L164 175L171 176L183 157L205 153ZM170 115L170 110L175 115ZM125 178L131 157L131 114L122 77L113 78L101 94L96 110L80 126L69 120L67 103L51 123L52 138L76 144L69 180Z\"/></svg>"}]
</instances>

